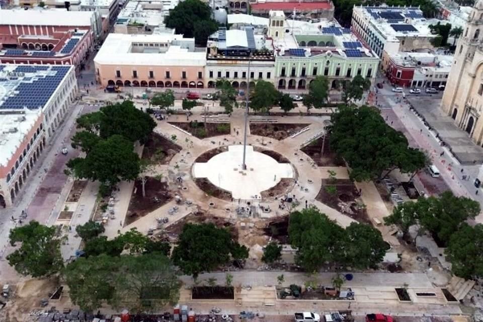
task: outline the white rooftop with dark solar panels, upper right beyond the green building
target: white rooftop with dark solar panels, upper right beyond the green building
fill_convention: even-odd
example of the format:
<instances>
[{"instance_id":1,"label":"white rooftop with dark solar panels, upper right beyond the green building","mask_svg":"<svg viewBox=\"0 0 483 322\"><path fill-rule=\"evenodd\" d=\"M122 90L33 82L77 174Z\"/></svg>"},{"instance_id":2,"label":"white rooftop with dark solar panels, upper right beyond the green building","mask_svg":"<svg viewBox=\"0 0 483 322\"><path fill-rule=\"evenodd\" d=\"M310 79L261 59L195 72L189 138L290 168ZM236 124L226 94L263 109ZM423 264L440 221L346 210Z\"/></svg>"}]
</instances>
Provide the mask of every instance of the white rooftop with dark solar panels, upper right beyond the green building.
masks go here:
<instances>
[{"instance_id":1,"label":"white rooftop with dark solar panels, upper right beyond the green building","mask_svg":"<svg viewBox=\"0 0 483 322\"><path fill-rule=\"evenodd\" d=\"M429 25L438 20L427 20L418 7L354 7L387 40L401 37L436 37Z\"/></svg>"}]
</instances>

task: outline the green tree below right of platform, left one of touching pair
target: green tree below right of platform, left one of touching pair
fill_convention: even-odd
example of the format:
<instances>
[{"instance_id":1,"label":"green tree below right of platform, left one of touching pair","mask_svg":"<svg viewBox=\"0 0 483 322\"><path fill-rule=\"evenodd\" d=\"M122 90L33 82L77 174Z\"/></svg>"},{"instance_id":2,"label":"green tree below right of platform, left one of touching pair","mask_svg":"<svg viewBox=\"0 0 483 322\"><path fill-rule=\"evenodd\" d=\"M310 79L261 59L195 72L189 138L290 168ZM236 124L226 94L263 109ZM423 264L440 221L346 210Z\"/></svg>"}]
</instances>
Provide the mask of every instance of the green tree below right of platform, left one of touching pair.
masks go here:
<instances>
[{"instance_id":1,"label":"green tree below right of platform, left one of touching pair","mask_svg":"<svg viewBox=\"0 0 483 322\"><path fill-rule=\"evenodd\" d=\"M341 226L314 207L290 214L290 245L297 249L295 262L307 272L316 272L326 262L335 261L343 234Z\"/></svg>"}]
</instances>

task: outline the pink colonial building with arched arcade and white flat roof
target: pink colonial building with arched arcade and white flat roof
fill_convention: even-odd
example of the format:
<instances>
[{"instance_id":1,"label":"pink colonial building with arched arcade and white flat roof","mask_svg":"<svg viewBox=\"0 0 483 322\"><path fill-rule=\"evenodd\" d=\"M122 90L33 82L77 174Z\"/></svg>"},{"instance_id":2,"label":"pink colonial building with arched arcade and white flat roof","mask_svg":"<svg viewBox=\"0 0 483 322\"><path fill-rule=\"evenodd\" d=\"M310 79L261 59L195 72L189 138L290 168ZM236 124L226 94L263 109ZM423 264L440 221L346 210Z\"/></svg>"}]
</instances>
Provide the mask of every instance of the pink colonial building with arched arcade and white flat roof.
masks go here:
<instances>
[{"instance_id":1,"label":"pink colonial building with arched arcade and white flat roof","mask_svg":"<svg viewBox=\"0 0 483 322\"><path fill-rule=\"evenodd\" d=\"M102 86L204 88L206 53L175 34L109 34L94 59Z\"/></svg>"}]
</instances>

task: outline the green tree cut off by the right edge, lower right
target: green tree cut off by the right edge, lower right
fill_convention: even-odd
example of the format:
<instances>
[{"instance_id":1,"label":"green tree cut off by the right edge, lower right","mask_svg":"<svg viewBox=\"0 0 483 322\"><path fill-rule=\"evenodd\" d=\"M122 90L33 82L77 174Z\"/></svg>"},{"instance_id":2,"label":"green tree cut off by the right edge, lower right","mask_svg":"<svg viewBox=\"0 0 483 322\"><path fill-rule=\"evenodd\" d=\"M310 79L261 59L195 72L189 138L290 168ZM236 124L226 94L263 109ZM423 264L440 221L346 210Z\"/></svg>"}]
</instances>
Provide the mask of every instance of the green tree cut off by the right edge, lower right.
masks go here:
<instances>
[{"instance_id":1,"label":"green tree cut off by the right edge, lower right","mask_svg":"<svg viewBox=\"0 0 483 322\"><path fill-rule=\"evenodd\" d=\"M463 223L451 235L445 253L453 274L466 279L483 277L483 224Z\"/></svg>"}]
</instances>

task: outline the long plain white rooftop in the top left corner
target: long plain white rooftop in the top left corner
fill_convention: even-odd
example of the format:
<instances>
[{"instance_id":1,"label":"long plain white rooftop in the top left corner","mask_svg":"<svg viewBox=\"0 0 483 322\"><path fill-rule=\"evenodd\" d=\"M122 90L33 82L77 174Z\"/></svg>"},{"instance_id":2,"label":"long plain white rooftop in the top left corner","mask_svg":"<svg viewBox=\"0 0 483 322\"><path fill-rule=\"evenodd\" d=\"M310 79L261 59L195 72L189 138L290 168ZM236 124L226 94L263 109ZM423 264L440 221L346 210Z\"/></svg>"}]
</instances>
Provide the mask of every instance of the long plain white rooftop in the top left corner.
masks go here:
<instances>
[{"instance_id":1,"label":"long plain white rooftop in the top left corner","mask_svg":"<svg viewBox=\"0 0 483 322\"><path fill-rule=\"evenodd\" d=\"M23 8L0 11L1 25L28 26L91 26L94 12L66 10L24 10Z\"/></svg>"}]
</instances>

